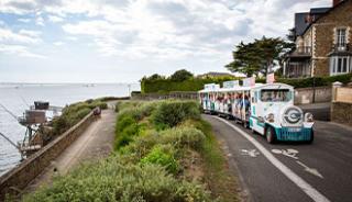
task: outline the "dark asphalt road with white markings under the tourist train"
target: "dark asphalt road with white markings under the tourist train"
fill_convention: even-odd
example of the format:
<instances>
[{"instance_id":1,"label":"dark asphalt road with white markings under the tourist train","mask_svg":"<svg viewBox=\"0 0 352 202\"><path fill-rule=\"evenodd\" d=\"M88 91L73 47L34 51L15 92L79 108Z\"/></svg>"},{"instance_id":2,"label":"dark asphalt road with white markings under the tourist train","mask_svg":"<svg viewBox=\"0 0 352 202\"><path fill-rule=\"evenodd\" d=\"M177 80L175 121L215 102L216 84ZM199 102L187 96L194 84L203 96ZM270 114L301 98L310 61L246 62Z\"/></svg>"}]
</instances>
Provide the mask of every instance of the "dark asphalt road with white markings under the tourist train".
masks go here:
<instances>
[{"instance_id":1,"label":"dark asphalt road with white markings under the tourist train","mask_svg":"<svg viewBox=\"0 0 352 202\"><path fill-rule=\"evenodd\" d=\"M311 145L270 145L232 121L227 124L216 116L204 117L223 142L248 201L352 201L351 127L317 122Z\"/></svg>"}]
</instances>

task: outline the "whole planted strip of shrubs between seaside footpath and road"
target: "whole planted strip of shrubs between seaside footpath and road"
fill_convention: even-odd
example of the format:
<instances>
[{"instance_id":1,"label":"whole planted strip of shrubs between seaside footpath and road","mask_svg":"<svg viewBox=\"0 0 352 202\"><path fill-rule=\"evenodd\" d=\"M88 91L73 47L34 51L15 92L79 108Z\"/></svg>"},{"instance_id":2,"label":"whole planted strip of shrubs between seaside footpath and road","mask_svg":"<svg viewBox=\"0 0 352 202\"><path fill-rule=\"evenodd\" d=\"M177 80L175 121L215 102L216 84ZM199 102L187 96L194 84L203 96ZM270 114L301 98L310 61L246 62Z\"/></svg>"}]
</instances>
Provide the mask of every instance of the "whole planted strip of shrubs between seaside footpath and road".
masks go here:
<instances>
[{"instance_id":1,"label":"whole planted strip of shrubs between seaside footpath and road","mask_svg":"<svg viewBox=\"0 0 352 202\"><path fill-rule=\"evenodd\" d=\"M194 101L120 101L114 153L24 201L238 201L235 179Z\"/></svg>"}]
</instances>

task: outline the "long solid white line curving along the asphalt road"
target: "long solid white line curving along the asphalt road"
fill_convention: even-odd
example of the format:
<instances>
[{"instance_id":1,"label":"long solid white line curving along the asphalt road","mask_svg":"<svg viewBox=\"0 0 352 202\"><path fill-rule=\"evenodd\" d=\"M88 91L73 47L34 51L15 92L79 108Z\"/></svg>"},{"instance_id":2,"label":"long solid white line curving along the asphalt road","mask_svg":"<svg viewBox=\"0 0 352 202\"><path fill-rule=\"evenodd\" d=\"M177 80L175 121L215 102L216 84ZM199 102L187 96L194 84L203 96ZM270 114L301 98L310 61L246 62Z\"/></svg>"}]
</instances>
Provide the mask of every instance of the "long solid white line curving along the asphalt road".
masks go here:
<instances>
[{"instance_id":1,"label":"long solid white line curving along the asphalt road","mask_svg":"<svg viewBox=\"0 0 352 202\"><path fill-rule=\"evenodd\" d=\"M232 127L234 131L240 133L244 138L251 142L265 157L266 159L272 162L279 171L282 171L290 181L293 181L298 188L300 188L308 197L310 197L314 201L317 202L330 202L328 198L321 194L318 190L311 187L308 182L306 182L302 178L296 175L293 170L290 170L287 166L280 162L274 155L272 155L262 144L255 141L252 136L240 130L239 127L232 125L226 120L220 117L213 116L219 121L223 122L224 124Z\"/></svg>"}]
</instances>

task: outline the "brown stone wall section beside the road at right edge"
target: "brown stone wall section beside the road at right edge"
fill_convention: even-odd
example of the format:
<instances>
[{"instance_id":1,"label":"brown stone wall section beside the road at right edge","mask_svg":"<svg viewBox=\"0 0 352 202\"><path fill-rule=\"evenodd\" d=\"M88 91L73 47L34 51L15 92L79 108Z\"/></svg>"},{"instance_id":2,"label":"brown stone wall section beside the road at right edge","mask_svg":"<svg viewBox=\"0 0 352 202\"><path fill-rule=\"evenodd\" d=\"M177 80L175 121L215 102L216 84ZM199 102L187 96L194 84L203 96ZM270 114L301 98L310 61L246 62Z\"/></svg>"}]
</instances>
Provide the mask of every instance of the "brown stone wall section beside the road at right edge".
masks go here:
<instances>
[{"instance_id":1,"label":"brown stone wall section beside the road at right edge","mask_svg":"<svg viewBox=\"0 0 352 202\"><path fill-rule=\"evenodd\" d=\"M352 103L332 102L331 121L352 126Z\"/></svg>"}]
</instances>

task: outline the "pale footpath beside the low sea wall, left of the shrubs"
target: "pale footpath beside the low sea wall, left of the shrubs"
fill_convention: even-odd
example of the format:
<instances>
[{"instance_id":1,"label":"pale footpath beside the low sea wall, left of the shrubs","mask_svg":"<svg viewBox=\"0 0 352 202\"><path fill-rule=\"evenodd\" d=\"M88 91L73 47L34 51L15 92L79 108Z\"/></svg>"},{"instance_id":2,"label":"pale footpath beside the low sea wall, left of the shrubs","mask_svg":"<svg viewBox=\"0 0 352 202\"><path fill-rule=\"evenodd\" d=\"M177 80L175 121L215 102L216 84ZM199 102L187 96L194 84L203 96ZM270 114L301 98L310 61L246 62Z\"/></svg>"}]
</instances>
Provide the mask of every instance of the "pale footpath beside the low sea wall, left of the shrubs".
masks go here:
<instances>
[{"instance_id":1,"label":"pale footpath beside the low sea wall, left of the shrubs","mask_svg":"<svg viewBox=\"0 0 352 202\"><path fill-rule=\"evenodd\" d=\"M86 160L97 160L108 156L112 150L114 138L116 113L113 103L101 112L101 119L94 122L55 161L47 167L25 190L30 192L37 187L50 183L53 176L64 175Z\"/></svg>"}]
</instances>

